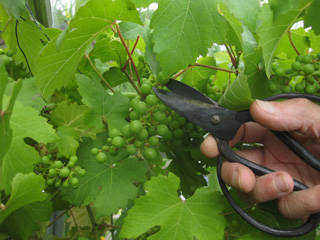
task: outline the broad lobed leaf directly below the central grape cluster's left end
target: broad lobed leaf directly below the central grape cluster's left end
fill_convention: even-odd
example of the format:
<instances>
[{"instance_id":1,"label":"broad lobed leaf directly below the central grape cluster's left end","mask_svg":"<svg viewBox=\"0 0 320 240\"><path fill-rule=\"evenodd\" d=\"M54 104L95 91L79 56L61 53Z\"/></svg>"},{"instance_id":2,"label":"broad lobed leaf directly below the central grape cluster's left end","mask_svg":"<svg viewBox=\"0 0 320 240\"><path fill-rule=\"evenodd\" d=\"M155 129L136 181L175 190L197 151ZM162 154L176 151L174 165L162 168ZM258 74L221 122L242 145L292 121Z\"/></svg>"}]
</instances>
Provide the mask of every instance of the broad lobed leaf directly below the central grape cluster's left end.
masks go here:
<instances>
[{"instance_id":1,"label":"broad lobed leaf directly below the central grape cluster's left end","mask_svg":"<svg viewBox=\"0 0 320 240\"><path fill-rule=\"evenodd\" d=\"M77 189L63 189L63 199L80 206L94 201L97 216L111 215L119 208L124 208L129 199L137 195L138 188L133 181L146 181L146 169L142 162L135 158L127 158L126 152L117 156L108 155L105 163L96 162L91 154L93 147L100 147L106 142L106 135L99 134L97 142L85 139L78 150L78 164L85 168L87 173L79 178Z\"/></svg>"}]
</instances>

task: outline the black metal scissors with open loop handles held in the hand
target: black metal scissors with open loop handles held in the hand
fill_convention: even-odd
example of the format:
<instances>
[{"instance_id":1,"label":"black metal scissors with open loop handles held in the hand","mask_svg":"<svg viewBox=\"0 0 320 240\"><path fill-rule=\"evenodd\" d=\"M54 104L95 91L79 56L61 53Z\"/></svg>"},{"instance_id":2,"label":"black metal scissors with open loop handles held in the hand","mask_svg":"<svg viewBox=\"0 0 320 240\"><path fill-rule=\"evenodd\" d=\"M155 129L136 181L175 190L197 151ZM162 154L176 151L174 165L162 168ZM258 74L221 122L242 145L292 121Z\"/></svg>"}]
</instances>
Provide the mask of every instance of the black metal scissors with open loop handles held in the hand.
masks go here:
<instances>
[{"instance_id":1,"label":"black metal scissors with open loop handles held in the hand","mask_svg":"<svg viewBox=\"0 0 320 240\"><path fill-rule=\"evenodd\" d=\"M217 102L196 89L174 79L170 79L165 86L169 91L153 88L158 98L172 110L185 117L188 121L212 134L216 139L220 152L218 157L217 175L221 190L230 205L244 220L253 227L277 237L297 237L318 227L320 213L312 214L304 224L295 228L276 228L267 226L247 214L229 193L228 188L221 178L222 157L229 162L238 162L247 166L257 176L274 172L272 169L263 167L237 155L229 146L228 142L235 137L240 126L246 122L254 121L249 110L236 112L223 108L219 106ZM306 98L311 101L320 102L320 97L301 93L278 94L265 99L265 101L292 98ZM271 132L303 161L320 171L320 161L288 132ZM294 180L294 191L300 191L307 188L308 186Z\"/></svg>"}]
</instances>

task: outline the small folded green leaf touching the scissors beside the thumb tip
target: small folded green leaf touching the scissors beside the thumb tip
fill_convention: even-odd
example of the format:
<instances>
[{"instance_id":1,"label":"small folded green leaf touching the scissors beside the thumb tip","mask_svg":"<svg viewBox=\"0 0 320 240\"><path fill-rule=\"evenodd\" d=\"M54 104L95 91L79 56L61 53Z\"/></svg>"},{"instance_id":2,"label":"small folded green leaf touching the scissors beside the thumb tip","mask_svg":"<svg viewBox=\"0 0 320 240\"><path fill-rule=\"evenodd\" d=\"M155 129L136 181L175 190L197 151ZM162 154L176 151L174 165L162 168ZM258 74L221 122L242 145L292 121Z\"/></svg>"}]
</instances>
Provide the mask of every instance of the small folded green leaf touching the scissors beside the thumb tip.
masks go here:
<instances>
[{"instance_id":1,"label":"small folded green leaf touching the scissors beside the thumb tip","mask_svg":"<svg viewBox=\"0 0 320 240\"><path fill-rule=\"evenodd\" d=\"M223 107L236 111L248 109L252 102L248 77L244 72L241 72L237 76L219 100L220 105Z\"/></svg>"}]
</instances>

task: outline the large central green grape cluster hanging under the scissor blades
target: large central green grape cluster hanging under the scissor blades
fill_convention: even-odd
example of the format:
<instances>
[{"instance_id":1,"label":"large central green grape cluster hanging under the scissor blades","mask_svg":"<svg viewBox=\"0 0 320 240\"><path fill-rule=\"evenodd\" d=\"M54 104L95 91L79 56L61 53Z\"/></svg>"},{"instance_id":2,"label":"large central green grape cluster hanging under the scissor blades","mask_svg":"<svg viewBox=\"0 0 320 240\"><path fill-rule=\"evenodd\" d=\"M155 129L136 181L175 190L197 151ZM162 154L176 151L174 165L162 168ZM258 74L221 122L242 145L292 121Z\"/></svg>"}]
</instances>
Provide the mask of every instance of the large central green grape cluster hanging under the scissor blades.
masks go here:
<instances>
[{"instance_id":1,"label":"large central green grape cluster hanging under the scissor blades","mask_svg":"<svg viewBox=\"0 0 320 240\"><path fill-rule=\"evenodd\" d=\"M107 153L116 155L121 149L152 161L159 152L166 152L170 147L199 144L203 130L160 102L152 86L152 81L141 79L140 90L144 97L131 100L128 124L121 130L111 129L107 144L91 150L97 162L105 162Z\"/></svg>"}]
</instances>

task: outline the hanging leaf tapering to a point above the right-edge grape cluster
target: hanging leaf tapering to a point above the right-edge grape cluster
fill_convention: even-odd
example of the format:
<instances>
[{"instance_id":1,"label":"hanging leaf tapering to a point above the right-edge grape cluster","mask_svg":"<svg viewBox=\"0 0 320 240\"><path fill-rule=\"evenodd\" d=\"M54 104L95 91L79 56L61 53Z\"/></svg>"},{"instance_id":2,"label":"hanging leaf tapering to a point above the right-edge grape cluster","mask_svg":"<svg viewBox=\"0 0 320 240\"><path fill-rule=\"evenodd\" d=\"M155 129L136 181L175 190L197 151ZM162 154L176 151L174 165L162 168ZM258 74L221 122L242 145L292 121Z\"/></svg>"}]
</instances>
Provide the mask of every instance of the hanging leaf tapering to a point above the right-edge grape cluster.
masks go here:
<instances>
[{"instance_id":1,"label":"hanging leaf tapering to a point above the right-edge grape cluster","mask_svg":"<svg viewBox=\"0 0 320 240\"><path fill-rule=\"evenodd\" d=\"M274 14L269 4L264 4L261 13L258 15L262 24L258 29L258 46L262 48L262 54L267 76L271 75L273 54L288 29L297 20L301 12L306 9L311 0L288 0L287 10L274 19Z\"/></svg>"}]
</instances>

